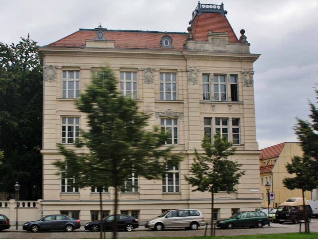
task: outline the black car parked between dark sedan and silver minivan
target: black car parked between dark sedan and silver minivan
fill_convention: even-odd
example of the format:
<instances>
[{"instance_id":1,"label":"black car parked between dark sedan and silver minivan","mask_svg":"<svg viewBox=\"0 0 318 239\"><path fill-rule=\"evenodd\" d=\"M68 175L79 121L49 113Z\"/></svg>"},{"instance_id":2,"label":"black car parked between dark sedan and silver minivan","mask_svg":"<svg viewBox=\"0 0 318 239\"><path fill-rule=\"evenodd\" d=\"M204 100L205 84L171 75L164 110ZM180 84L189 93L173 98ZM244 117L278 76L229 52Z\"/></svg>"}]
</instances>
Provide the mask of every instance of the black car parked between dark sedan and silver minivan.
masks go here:
<instances>
[{"instance_id":1,"label":"black car parked between dark sedan and silver minivan","mask_svg":"<svg viewBox=\"0 0 318 239\"><path fill-rule=\"evenodd\" d=\"M139 227L138 219L132 216L117 214L117 228L125 231L132 231ZM103 230L112 230L114 224L115 215L109 215L103 218ZM97 232L100 230L100 220L88 222L85 225L85 230L91 230Z\"/></svg>"}]
</instances>

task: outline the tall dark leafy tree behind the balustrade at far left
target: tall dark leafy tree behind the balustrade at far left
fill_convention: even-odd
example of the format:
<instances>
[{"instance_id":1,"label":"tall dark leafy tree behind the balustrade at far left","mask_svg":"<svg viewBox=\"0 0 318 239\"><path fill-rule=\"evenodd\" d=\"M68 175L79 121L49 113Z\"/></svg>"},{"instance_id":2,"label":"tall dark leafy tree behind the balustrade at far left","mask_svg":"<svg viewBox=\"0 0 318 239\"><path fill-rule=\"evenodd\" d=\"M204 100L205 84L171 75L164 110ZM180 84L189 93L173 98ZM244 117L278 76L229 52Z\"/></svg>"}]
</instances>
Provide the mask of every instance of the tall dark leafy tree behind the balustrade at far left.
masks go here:
<instances>
[{"instance_id":1,"label":"tall dark leafy tree behind the balustrade at far left","mask_svg":"<svg viewBox=\"0 0 318 239\"><path fill-rule=\"evenodd\" d=\"M36 42L0 43L0 190L42 198L43 73Z\"/></svg>"}]
</instances>

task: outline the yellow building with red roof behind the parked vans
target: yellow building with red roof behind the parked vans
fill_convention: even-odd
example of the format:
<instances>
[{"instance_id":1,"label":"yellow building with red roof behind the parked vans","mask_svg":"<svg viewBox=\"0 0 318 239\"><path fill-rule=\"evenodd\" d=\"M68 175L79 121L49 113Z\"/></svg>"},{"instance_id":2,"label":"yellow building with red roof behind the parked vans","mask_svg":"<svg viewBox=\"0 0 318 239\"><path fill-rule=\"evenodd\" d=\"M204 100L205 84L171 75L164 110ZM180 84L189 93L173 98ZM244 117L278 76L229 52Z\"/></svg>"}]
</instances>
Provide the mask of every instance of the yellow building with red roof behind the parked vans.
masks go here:
<instances>
[{"instance_id":1,"label":"yellow building with red roof behind the parked vans","mask_svg":"<svg viewBox=\"0 0 318 239\"><path fill-rule=\"evenodd\" d=\"M303 151L300 143L284 142L265 149L261 149L259 155L259 173L260 173L260 192L263 198L262 207L268 206L268 195L266 183L271 184L269 192L275 194L274 202L271 207L278 207L280 203L285 202L291 197L302 197L301 189L289 190L284 187L283 179L292 177L287 173L285 165L292 162L294 156L302 156ZM305 198L311 199L311 192L305 192Z\"/></svg>"}]
</instances>

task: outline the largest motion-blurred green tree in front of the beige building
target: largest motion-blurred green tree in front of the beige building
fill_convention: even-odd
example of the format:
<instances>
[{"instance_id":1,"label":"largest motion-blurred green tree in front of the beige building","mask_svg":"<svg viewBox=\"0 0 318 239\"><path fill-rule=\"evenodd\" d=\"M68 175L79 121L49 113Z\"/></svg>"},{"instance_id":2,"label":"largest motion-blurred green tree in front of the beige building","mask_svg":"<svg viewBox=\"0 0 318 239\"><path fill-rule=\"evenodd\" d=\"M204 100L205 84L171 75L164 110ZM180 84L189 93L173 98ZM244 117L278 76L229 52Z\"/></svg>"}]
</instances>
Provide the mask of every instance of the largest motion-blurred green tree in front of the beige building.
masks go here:
<instances>
[{"instance_id":1,"label":"largest motion-blurred green tree in front of the beige building","mask_svg":"<svg viewBox=\"0 0 318 239\"><path fill-rule=\"evenodd\" d=\"M137 102L122 96L117 85L109 67L92 80L76 102L77 109L87 114L89 126L89 130L81 131L76 147L85 146L89 152L79 154L59 145L65 160L54 162L68 178L75 179L74 186L113 187L115 214L118 192L132 172L147 179L159 178L167 171L168 162L181 161L179 154L171 152L172 147L162 147L166 135L157 128L149 129L150 116L139 112ZM116 238L116 219L114 227Z\"/></svg>"}]
</instances>

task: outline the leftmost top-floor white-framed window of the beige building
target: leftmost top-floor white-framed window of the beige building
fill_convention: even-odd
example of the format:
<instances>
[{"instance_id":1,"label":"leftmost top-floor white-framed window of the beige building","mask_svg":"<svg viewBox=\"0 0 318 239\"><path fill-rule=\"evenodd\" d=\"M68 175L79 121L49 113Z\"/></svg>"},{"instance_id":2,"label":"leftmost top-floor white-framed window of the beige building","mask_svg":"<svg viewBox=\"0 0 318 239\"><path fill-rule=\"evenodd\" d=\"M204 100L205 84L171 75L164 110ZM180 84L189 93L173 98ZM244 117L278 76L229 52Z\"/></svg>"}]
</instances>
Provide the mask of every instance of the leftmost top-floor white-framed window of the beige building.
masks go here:
<instances>
[{"instance_id":1,"label":"leftmost top-floor white-framed window of the beige building","mask_svg":"<svg viewBox=\"0 0 318 239\"><path fill-rule=\"evenodd\" d=\"M79 98L79 70L63 70L62 98Z\"/></svg>"}]
</instances>

